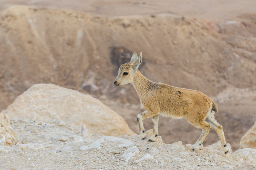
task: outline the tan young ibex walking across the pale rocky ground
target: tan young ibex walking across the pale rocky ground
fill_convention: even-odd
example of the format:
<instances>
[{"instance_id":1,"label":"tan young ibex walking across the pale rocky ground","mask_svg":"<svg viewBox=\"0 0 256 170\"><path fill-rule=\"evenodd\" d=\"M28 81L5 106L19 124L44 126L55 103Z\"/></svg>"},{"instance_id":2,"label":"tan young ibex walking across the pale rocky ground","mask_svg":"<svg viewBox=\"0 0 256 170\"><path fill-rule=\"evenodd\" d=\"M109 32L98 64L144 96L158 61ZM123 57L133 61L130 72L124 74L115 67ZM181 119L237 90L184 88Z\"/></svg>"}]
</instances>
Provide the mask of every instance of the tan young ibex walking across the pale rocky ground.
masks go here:
<instances>
[{"instance_id":1,"label":"tan young ibex walking across the pale rocky ground","mask_svg":"<svg viewBox=\"0 0 256 170\"><path fill-rule=\"evenodd\" d=\"M184 88L173 87L161 82L153 82L144 77L138 70L142 61L142 53L138 57L133 53L131 61L120 66L114 84L116 86L131 83L135 88L142 106L146 109L138 114L140 137L146 138L142 120L152 117L154 123L153 135L149 141L156 141L158 135L159 115L175 118L185 117L196 128L202 129L202 134L193 145L195 150L202 145L210 128L220 137L222 149L228 153L222 126L215 120L214 113L218 111L217 104L204 93Z\"/></svg>"}]
</instances>

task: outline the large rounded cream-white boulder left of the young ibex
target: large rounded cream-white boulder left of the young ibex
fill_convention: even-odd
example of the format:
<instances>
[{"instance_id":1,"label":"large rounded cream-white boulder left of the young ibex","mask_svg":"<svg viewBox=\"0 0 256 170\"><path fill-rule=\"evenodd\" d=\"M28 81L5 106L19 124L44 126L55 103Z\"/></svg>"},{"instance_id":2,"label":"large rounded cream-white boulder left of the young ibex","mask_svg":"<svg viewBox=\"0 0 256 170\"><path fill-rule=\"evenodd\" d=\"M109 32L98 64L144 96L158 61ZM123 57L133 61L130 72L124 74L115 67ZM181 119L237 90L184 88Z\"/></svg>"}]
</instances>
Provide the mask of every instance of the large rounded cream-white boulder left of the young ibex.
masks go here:
<instances>
[{"instance_id":1,"label":"large rounded cream-white boulder left of the young ibex","mask_svg":"<svg viewBox=\"0 0 256 170\"><path fill-rule=\"evenodd\" d=\"M77 132L81 132L82 126L86 125L90 133L99 135L134 134L123 117L100 100L52 84L31 86L2 113L16 120L59 120L58 125L69 125Z\"/></svg>"}]
</instances>

